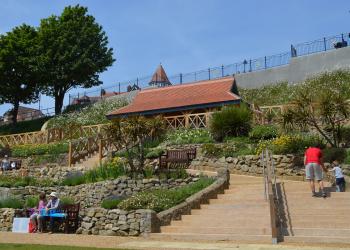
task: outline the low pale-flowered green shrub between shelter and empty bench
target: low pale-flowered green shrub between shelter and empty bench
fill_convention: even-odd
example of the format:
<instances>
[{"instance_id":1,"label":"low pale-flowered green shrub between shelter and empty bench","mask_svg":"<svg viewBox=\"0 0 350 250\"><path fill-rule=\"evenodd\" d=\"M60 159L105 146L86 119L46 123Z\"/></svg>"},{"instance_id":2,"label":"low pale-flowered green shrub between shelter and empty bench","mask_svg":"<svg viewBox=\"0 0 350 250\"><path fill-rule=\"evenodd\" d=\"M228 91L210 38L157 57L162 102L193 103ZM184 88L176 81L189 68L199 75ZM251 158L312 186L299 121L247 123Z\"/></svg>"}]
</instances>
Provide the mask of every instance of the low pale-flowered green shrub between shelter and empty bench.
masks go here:
<instances>
[{"instance_id":1,"label":"low pale-flowered green shrub between shelter and empty bench","mask_svg":"<svg viewBox=\"0 0 350 250\"><path fill-rule=\"evenodd\" d=\"M168 132L166 142L171 145L210 143L213 138L206 129L179 129Z\"/></svg>"}]
</instances>

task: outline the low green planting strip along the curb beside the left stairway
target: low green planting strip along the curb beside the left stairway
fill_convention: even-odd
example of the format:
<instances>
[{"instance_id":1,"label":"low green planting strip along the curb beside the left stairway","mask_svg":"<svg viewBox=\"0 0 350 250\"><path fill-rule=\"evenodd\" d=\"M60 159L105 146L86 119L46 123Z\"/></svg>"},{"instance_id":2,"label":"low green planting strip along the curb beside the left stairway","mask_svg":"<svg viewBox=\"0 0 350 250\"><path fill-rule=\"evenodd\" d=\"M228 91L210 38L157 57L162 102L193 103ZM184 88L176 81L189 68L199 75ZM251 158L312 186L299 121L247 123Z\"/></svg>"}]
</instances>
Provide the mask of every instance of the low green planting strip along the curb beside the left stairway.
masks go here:
<instances>
[{"instance_id":1,"label":"low green planting strip along the curb beside the left stairway","mask_svg":"<svg viewBox=\"0 0 350 250\"><path fill-rule=\"evenodd\" d=\"M137 193L120 202L118 208L123 210L152 209L161 212L185 201L186 198L213 182L211 178L201 178L196 183L176 189L158 189Z\"/></svg>"}]
</instances>

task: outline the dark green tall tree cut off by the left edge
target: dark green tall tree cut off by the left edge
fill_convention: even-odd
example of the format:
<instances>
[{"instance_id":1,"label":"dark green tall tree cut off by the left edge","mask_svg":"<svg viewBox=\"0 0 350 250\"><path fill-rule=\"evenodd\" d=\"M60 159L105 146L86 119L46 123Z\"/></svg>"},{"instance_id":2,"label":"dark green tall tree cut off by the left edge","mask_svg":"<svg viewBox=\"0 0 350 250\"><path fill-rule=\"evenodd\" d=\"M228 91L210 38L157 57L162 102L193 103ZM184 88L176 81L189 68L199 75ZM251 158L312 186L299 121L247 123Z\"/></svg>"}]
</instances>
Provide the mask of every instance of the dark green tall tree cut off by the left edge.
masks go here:
<instances>
[{"instance_id":1,"label":"dark green tall tree cut off by the left edge","mask_svg":"<svg viewBox=\"0 0 350 250\"><path fill-rule=\"evenodd\" d=\"M0 36L0 102L13 104L13 123L20 103L38 99L36 45L37 31L25 24Z\"/></svg>"}]
</instances>

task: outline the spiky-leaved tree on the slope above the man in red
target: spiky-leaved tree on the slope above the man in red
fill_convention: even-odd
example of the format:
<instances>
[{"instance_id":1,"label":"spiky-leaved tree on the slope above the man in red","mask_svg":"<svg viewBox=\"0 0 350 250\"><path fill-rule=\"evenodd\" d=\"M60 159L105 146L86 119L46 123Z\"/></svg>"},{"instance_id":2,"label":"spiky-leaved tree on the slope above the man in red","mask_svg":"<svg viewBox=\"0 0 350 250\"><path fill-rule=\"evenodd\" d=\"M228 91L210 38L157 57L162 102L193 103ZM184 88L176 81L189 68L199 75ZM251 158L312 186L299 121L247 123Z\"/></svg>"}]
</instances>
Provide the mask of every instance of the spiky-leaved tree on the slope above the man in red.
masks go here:
<instances>
[{"instance_id":1,"label":"spiky-leaved tree on the slope above the man in red","mask_svg":"<svg viewBox=\"0 0 350 250\"><path fill-rule=\"evenodd\" d=\"M298 86L283 114L287 129L312 128L338 147L344 121L350 116L350 73L335 71L310 78Z\"/></svg>"}]
</instances>

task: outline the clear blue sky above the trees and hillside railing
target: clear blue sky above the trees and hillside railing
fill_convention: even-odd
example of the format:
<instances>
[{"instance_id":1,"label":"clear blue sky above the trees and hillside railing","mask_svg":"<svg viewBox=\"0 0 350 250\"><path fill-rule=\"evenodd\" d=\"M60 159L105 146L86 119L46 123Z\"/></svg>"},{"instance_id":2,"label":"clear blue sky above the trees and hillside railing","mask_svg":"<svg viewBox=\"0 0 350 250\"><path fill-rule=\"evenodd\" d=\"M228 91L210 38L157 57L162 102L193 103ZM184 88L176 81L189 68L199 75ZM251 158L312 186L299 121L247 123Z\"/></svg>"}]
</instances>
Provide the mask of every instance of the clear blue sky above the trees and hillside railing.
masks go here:
<instances>
[{"instance_id":1,"label":"clear blue sky above the trees and hillside railing","mask_svg":"<svg viewBox=\"0 0 350 250\"><path fill-rule=\"evenodd\" d=\"M168 75L174 75L285 52L291 43L350 31L346 0L0 0L0 4L0 33L22 23L37 26L41 18L59 15L67 5L88 7L108 35L116 58L101 74L105 87L150 75L160 62ZM53 100L43 97L41 106L53 107ZM0 105L0 114L10 107Z\"/></svg>"}]
</instances>

